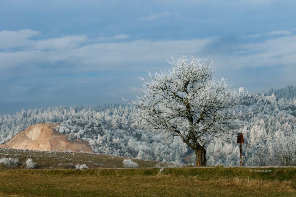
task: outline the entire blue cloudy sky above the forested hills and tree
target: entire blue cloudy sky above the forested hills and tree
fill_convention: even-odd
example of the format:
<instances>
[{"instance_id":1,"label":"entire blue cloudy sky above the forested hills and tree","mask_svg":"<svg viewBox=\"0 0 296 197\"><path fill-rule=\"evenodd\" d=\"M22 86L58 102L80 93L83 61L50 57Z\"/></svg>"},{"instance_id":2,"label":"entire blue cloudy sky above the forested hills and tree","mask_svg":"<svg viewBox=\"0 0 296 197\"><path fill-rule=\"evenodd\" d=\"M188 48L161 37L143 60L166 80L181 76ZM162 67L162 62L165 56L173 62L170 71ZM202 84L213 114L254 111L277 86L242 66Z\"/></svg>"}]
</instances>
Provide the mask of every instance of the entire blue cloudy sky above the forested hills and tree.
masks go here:
<instances>
[{"instance_id":1,"label":"entire blue cloudy sky above the forested hills and tree","mask_svg":"<svg viewBox=\"0 0 296 197\"><path fill-rule=\"evenodd\" d=\"M0 0L0 115L133 100L171 57L245 92L296 84L295 0Z\"/></svg>"}]
</instances>

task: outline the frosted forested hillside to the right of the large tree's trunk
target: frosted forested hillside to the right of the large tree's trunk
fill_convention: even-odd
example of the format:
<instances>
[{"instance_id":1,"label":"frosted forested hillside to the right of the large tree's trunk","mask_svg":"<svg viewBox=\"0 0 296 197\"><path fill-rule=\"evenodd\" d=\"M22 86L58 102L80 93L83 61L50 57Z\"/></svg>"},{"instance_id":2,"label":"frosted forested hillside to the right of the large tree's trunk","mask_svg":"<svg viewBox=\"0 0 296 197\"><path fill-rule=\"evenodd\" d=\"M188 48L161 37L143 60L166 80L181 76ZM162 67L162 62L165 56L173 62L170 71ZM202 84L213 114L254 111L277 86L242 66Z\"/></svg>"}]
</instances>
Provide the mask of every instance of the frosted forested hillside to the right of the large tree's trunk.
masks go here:
<instances>
[{"instance_id":1,"label":"frosted forested hillside to the right of the large tree's trunk","mask_svg":"<svg viewBox=\"0 0 296 197\"><path fill-rule=\"evenodd\" d=\"M284 89L282 89L284 92ZM296 100L277 99L274 94L264 96L246 94L237 109L244 126L242 155L246 166L296 165ZM239 146L213 139L207 146L209 165L239 166Z\"/></svg>"}]
</instances>

